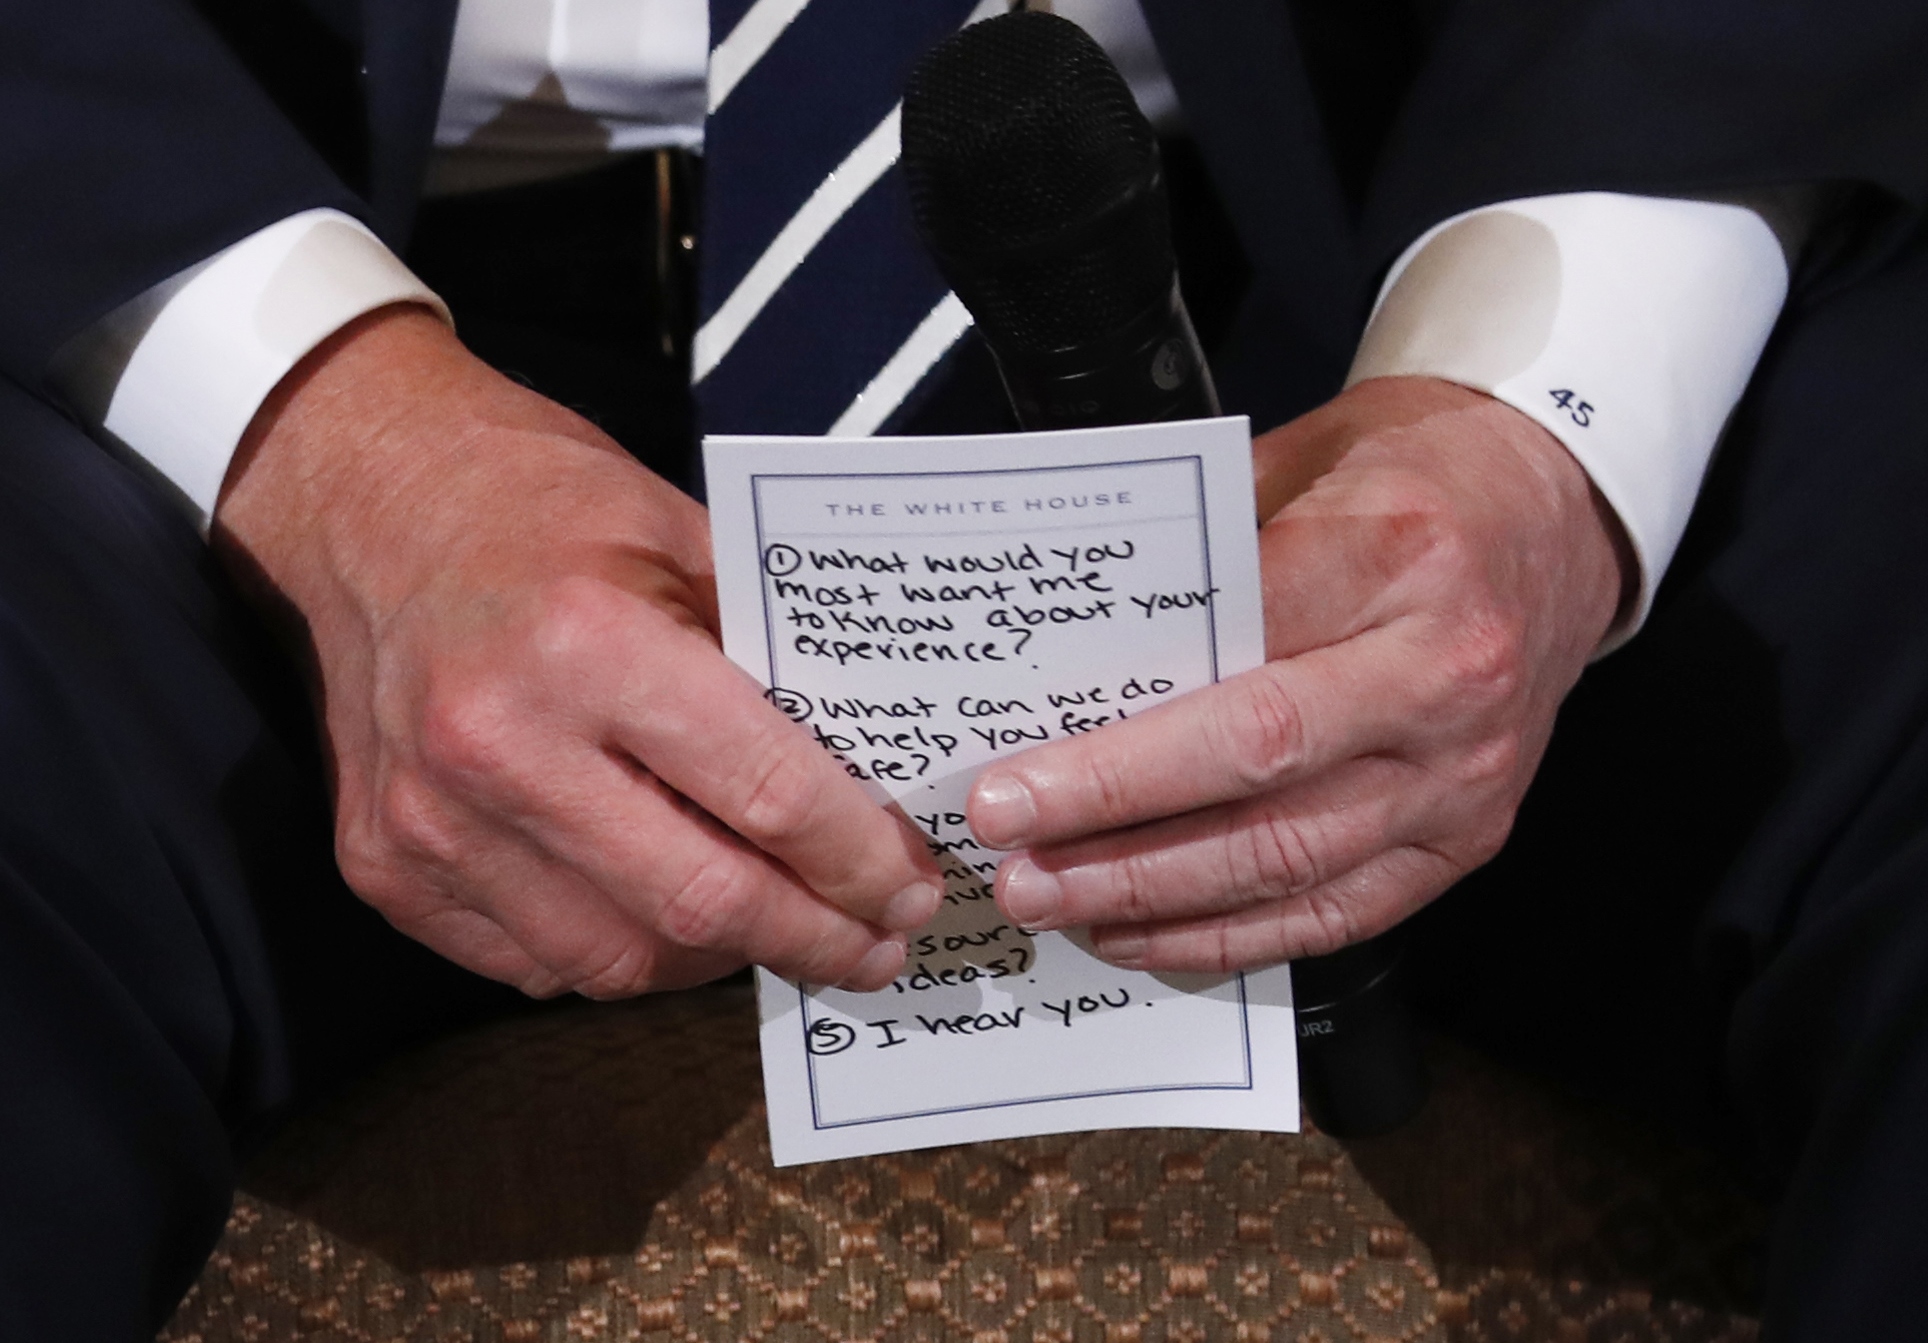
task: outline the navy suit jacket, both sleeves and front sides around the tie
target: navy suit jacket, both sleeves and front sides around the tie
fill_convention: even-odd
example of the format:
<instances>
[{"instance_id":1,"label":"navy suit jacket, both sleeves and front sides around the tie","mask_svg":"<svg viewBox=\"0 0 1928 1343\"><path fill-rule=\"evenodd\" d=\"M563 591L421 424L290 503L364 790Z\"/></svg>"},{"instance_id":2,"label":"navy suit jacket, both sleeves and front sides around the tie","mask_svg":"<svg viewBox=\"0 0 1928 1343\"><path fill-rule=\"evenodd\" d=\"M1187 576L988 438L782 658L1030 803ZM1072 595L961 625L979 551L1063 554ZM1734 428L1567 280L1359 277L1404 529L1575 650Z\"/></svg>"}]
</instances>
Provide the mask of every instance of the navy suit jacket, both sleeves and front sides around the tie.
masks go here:
<instances>
[{"instance_id":1,"label":"navy suit jacket, both sleeves and front sides around the tie","mask_svg":"<svg viewBox=\"0 0 1928 1343\"><path fill-rule=\"evenodd\" d=\"M347 210L401 247L455 8L0 0L0 376L54 399L64 341L297 210ZM1261 428L1336 389L1398 250L1483 202L1843 183L1822 249L1835 272L1920 227L1918 0L1415 8L1398 116L1346 193L1288 0L1145 0L1253 262L1218 364L1228 407Z\"/></svg>"}]
</instances>

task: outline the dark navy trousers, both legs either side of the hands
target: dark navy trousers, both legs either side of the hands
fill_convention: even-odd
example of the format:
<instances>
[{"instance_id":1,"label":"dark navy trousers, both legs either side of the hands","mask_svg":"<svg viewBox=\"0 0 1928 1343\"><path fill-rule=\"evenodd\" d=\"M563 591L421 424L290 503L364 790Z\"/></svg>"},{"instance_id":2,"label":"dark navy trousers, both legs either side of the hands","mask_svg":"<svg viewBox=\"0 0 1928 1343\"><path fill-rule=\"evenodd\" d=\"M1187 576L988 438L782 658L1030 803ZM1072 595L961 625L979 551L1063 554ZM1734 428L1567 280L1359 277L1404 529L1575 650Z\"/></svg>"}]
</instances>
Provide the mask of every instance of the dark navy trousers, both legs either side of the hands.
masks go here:
<instances>
[{"instance_id":1,"label":"dark navy trousers, both legs either side of the hands","mask_svg":"<svg viewBox=\"0 0 1928 1343\"><path fill-rule=\"evenodd\" d=\"M1924 353L1928 250L1795 314L1650 628L1419 938L1498 1048L1741 1125L1783 1339L1928 1312ZM341 886L299 676L162 489L0 383L0 1337L150 1337L237 1143L497 1004Z\"/></svg>"}]
</instances>

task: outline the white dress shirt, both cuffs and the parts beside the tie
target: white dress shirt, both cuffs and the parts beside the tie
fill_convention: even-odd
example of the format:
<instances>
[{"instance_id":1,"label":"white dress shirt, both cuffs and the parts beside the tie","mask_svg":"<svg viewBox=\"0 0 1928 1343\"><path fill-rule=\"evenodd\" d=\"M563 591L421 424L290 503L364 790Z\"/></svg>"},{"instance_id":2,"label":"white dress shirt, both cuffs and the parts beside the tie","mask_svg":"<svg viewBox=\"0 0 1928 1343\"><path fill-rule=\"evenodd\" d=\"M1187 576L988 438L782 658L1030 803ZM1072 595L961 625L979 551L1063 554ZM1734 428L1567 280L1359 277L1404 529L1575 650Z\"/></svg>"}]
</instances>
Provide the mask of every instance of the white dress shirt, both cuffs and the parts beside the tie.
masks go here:
<instances>
[{"instance_id":1,"label":"white dress shirt, both cuffs and the parts beside the tie","mask_svg":"<svg viewBox=\"0 0 1928 1343\"><path fill-rule=\"evenodd\" d=\"M1178 112L1136 0L1057 0ZM706 0L461 0L440 189L530 181L615 152L698 146ZM1633 634L1720 432L1787 295L1756 210L1583 193L1444 220L1394 264L1350 382L1423 374L1546 426L1618 513L1641 565ZM362 225L281 220L104 318L71 370L83 414L172 480L201 522L247 424L295 362L353 318L442 303ZM102 366L123 360L118 378ZM102 387L102 383L106 383Z\"/></svg>"}]
</instances>

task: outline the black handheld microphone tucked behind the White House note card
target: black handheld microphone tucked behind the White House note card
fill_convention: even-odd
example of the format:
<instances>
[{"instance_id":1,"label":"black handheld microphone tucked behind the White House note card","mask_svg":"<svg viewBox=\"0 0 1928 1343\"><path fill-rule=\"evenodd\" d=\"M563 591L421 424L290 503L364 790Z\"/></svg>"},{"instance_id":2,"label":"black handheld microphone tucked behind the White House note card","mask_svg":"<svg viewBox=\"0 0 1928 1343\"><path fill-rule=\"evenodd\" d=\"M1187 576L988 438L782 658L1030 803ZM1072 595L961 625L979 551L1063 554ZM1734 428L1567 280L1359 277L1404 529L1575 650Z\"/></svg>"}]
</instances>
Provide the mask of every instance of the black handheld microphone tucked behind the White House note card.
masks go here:
<instances>
[{"instance_id":1,"label":"black handheld microphone tucked behind the White House note card","mask_svg":"<svg viewBox=\"0 0 1928 1343\"><path fill-rule=\"evenodd\" d=\"M1020 12L939 42L904 87L902 166L1018 424L1218 414L1178 293L1159 139L1082 27ZM1380 936L1292 967L1301 1093L1326 1133L1384 1133L1425 1100L1396 963Z\"/></svg>"}]
</instances>

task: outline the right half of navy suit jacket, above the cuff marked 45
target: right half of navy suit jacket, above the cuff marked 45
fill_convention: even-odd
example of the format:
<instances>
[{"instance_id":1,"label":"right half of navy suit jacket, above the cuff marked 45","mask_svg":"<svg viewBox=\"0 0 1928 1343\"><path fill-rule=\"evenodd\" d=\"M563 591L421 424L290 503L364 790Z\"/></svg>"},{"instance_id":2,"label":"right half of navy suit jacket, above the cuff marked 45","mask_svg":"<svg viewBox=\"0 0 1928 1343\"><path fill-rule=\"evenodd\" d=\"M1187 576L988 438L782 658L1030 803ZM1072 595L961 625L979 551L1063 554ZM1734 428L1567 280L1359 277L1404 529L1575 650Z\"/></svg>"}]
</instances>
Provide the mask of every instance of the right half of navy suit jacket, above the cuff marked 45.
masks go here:
<instances>
[{"instance_id":1,"label":"right half of navy suit jacket, above the cuff marked 45","mask_svg":"<svg viewBox=\"0 0 1928 1343\"><path fill-rule=\"evenodd\" d=\"M1411 0L1417 73L1392 89L1359 214L1292 0L1143 8L1251 260L1213 368L1259 428L1338 391L1392 260L1479 206L1843 183L1845 243L1816 254L1864 264L1928 206L1918 0Z\"/></svg>"}]
</instances>

